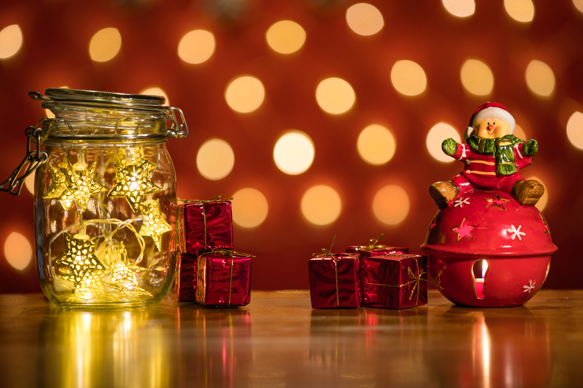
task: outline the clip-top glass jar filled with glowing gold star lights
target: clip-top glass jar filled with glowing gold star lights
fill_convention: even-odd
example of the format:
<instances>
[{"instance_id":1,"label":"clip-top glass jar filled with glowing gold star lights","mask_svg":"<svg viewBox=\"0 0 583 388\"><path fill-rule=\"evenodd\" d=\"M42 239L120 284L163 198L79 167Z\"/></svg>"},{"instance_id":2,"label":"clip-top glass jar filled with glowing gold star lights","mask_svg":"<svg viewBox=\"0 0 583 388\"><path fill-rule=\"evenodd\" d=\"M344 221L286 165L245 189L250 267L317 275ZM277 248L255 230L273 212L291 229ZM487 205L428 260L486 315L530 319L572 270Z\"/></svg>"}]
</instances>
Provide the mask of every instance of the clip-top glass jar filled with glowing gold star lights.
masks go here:
<instances>
[{"instance_id":1,"label":"clip-top glass jar filled with glowing gold star lights","mask_svg":"<svg viewBox=\"0 0 583 388\"><path fill-rule=\"evenodd\" d=\"M173 282L177 247L166 140L187 136L182 112L151 95L60 88L47 89L46 97L29 94L55 115L27 133L29 155L35 136L45 154L37 149L44 160L34 180L44 294L72 308L159 302Z\"/></svg>"}]
</instances>

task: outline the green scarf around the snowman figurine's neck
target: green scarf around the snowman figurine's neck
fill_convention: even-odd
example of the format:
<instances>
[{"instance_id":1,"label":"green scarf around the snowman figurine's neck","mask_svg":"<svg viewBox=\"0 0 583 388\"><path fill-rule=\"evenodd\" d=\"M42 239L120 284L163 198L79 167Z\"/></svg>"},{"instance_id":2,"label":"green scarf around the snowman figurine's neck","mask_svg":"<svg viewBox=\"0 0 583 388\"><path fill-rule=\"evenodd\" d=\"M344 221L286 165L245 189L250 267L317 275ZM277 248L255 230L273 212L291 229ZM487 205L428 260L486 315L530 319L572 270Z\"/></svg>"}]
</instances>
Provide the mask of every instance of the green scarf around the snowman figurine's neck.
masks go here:
<instances>
[{"instance_id":1,"label":"green scarf around the snowman figurine's neck","mask_svg":"<svg viewBox=\"0 0 583 388\"><path fill-rule=\"evenodd\" d=\"M514 145L522 143L514 135L506 135L502 138L487 139L472 135L466 143L472 151L482 155L493 155L496 158L496 173L498 175L512 175L518 172L514 161Z\"/></svg>"}]
</instances>

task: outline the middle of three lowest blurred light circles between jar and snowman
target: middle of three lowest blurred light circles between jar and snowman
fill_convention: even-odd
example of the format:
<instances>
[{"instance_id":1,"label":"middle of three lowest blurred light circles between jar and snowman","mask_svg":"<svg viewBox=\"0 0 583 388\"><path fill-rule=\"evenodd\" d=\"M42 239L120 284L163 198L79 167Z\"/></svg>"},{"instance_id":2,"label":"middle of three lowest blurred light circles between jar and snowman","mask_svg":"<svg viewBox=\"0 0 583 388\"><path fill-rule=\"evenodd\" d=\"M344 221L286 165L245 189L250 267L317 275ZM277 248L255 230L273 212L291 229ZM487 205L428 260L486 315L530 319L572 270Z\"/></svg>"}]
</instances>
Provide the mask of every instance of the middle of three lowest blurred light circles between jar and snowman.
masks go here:
<instances>
[{"instance_id":1,"label":"middle of three lowest blurred light circles between jar and snowman","mask_svg":"<svg viewBox=\"0 0 583 388\"><path fill-rule=\"evenodd\" d=\"M340 195L332 187L314 186L301 198L301 212L315 225L328 225L340 215Z\"/></svg>"}]
</instances>

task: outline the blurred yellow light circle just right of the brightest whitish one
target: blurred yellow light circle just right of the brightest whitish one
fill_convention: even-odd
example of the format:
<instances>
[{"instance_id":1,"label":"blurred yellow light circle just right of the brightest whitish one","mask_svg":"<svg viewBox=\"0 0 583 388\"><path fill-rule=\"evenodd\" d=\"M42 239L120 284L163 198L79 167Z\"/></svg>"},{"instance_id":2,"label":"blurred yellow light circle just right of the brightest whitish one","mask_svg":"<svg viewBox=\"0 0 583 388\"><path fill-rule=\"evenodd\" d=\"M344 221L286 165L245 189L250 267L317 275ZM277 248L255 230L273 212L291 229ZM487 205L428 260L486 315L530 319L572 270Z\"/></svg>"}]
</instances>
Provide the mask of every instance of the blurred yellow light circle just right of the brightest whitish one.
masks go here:
<instances>
[{"instance_id":1,"label":"blurred yellow light circle just right of the brightest whitish one","mask_svg":"<svg viewBox=\"0 0 583 388\"><path fill-rule=\"evenodd\" d=\"M371 165L384 165L395 155L395 137L383 126L373 124L363 129L357 141L359 155Z\"/></svg>"}]
</instances>

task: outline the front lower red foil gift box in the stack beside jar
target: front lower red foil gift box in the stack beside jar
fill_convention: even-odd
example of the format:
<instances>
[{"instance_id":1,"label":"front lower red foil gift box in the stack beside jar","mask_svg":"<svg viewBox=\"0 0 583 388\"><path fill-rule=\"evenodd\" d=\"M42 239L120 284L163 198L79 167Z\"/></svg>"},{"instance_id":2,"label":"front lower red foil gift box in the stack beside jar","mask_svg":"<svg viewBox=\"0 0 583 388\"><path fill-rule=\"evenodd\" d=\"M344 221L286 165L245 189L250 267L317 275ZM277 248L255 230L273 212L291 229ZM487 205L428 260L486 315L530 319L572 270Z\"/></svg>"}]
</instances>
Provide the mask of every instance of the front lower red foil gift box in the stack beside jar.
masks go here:
<instances>
[{"instance_id":1,"label":"front lower red foil gift box in the stack beside jar","mask_svg":"<svg viewBox=\"0 0 583 388\"><path fill-rule=\"evenodd\" d=\"M196 301L213 306L244 306L251 301L251 258L201 254L197 258Z\"/></svg>"}]
</instances>

